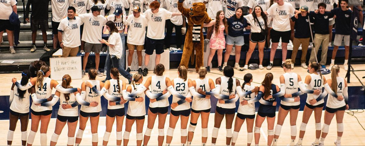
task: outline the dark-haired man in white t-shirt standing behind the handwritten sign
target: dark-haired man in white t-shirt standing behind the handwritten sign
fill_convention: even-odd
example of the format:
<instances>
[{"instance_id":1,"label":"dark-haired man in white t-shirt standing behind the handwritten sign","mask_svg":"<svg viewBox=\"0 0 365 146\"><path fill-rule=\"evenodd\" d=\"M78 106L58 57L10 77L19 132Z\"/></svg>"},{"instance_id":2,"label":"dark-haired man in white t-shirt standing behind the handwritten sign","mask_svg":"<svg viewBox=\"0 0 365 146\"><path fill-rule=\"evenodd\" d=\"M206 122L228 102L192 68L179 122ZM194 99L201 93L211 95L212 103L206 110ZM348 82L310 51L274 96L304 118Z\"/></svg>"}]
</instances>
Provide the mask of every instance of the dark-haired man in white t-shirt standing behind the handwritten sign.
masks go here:
<instances>
[{"instance_id":1,"label":"dark-haired man in white t-shirt standing behind the handwritten sign","mask_svg":"<svg viewBox=\"0 0 365 146\"><path fill-rule=\"evenodd\" d=\"M58 41L62 47L62 57L76 56L80 42L80 26L84 24L79 17L76 17L76 9L69 7L67 17L62 19L58 25Z\"/></svg>"}]
</instances>

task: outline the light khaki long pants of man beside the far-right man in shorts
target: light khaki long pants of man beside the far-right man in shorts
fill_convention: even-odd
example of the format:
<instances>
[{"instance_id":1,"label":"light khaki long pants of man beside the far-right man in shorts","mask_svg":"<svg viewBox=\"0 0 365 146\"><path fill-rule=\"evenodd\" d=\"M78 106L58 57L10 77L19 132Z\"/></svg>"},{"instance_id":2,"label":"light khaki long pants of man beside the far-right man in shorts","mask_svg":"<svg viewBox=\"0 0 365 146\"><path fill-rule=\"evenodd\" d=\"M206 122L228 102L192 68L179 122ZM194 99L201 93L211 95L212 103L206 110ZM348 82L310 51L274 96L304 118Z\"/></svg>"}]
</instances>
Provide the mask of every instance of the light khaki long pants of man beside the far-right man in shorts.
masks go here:
<instances>
[{"instance_id":1,"label":"light khaki long pants of man beside the far-right man in shorts","mask_svg":"<svg viewBox=\"0 0 365 146\"><path fill-rule=\"evenodd\" d=\"M310 62L316 62L316 56L315 53L318 55L318 48L322 44L322 54L319 64L320 65L326 65L327 62L327 51L328 51L328 41L329 41L330 34L327 35L321 35L321 34L315 34L314 35L314 48L311 52L311 58L309 59Z\"/></svg>"}]
</instances>

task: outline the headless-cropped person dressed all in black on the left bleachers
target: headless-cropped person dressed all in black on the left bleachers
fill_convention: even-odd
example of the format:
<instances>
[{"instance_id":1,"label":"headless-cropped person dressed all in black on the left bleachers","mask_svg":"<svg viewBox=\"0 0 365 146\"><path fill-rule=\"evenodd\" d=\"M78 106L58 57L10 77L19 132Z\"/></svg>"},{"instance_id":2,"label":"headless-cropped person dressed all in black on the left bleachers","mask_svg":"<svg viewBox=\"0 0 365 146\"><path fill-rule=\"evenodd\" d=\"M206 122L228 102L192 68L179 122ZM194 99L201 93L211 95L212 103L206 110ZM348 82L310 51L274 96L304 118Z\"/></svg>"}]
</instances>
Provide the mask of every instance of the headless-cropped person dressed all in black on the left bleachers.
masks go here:
<instances>
[{"instance_id":1,"label":"headless-cropped person dressed all in black on the left bleachers","mask_svg":"<svg viewBox=\"0 0 365 146\"><path fill-rule=\"evenodd\" d=\"M37 30L41 27L42 37L43 37L43 50L50 51L47 46L47 33L46 30L48 27L48 4L50 0L28 0L27 7L25 10L25 20L30 22L30 29L32 30L32 48L30 52L34 52L37 50L35 46L35 39L37 37ZM32 14L30 15L29 21L29 12L30 6L32 6Z\"/></svg>"}]
</instances>

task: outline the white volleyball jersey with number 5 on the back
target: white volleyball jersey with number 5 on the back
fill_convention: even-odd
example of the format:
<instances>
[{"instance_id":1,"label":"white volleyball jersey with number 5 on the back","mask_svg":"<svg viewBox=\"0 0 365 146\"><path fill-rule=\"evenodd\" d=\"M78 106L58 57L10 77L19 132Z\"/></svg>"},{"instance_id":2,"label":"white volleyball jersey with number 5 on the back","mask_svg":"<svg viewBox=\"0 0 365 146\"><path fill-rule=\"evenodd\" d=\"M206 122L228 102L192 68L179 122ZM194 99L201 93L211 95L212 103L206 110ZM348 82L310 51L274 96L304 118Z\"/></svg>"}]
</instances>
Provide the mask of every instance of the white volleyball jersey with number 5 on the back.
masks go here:
<instances>
[{"instance_id":1,"label":"white volleyball jersey with number 5 on the back","mask_svg":"<svg viewBox=\"0 0 365 146\"><path fill-rule=\"evenodd\" d=\"M285 94L293 94L298 92L298 75L294 72L286 72L283 74L285 79ZM295 97L291 97L295 98ZM280 101L280 104L285 106L297 106L300 104L299 102L285 102L283 100Z\"/></svg>"}]
</instances>

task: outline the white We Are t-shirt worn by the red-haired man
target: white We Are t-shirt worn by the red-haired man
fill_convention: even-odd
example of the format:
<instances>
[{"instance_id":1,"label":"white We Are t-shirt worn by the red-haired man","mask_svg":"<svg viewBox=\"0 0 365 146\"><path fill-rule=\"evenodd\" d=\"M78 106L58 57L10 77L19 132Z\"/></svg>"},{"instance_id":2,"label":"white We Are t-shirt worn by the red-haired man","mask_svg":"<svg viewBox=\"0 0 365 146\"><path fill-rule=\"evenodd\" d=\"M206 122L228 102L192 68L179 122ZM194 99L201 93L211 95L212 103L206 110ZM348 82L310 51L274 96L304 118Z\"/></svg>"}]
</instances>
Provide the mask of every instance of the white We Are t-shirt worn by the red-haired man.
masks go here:
<instances>
[{"instance_id":1,"label":"white We Are t-shirt worn by the red-haired man","mask_svg":"<svg viewBox=\"0 0 365 146\"><path fill-rule=\"evenodd\" d=\"M147 9L144 13L148 20L147 37L150 39L164 39L165 38L165 20L170 19L172 12L164 8L159 8L157 13L152 13L151 9Z\"/></svg>"}]
</instances>

